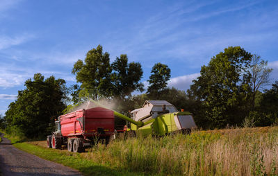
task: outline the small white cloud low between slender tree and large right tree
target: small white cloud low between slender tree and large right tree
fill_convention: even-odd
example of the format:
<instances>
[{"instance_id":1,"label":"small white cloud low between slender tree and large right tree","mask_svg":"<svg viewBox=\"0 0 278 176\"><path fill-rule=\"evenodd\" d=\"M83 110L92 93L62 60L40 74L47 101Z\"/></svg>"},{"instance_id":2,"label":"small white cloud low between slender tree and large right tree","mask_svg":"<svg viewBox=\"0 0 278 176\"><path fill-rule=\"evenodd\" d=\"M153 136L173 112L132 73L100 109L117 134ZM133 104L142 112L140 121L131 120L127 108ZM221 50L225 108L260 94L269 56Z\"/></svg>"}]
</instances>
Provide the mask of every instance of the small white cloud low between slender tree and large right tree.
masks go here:
<instances>
[{"instance_id":1,"label":"small white cloud low between slender tree and large right tree","mask_svg":"<svg viewBox=\"0 0 278 176\"><path fill-rule=\"evenodd\" d=\"M190 85L192 85L192 81L199 77L199 73L194 73L185 76L178 76L176 78L171 78L168 82L168 87L174 87L180 90L189 89Z\"/></svg>"}]
</instances>

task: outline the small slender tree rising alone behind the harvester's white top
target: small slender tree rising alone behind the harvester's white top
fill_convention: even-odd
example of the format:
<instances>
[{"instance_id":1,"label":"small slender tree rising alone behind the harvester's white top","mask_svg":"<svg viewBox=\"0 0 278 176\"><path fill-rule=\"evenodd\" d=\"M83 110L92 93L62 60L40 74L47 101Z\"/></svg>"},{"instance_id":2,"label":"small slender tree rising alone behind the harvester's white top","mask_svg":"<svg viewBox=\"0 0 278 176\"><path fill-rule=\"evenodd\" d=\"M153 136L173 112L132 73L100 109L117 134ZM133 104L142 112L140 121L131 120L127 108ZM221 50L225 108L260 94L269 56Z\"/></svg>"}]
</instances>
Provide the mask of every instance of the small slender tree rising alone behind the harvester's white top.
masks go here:
<instances>
[{"instance_id":1,"label":"small slender tree rising alone behind the harvester's white top","mask_svg":"<svg viewBox=\"0 0 278 176\"><path fill-rule=\"evenodd\" d=\"M159 92L167 87L167 81L170 80L171 70L167 65L156 63L152 67L151 76L149 76L149 86L147 94L151 98L158 98Z\"/></svg>"}]
</instances>

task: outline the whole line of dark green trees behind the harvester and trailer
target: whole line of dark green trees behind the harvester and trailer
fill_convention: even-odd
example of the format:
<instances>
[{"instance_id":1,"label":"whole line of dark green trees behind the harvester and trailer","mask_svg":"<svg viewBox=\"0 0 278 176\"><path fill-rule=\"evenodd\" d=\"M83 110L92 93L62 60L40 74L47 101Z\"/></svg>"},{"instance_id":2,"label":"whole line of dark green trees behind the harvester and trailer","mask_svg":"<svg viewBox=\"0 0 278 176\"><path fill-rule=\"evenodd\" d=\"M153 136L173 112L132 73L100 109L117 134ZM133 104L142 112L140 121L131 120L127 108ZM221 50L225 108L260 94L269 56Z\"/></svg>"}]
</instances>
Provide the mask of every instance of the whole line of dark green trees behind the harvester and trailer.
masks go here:
<instances>
[{"instance_id":1,"label":"whole line of dark green trees behind the harvester and trailer","mask_svg":"<svg viewBox=\"0 0 278 176\"><path fill-rule=\"evenodd\" d=\"M0 127L29 138L45 137L67 105L88 98L113 100L117 102L115 110L122 113L141 107L145 100L167 100L177 109L192 112L197 126L204 129L277 123L278 82L262 91L272 69L259 55L240 46L213 56L187 92L167 87L171 70L166 64L154 64L145 90L139 62L129 62L124 54L112 63L110 60L100 45L88 51L83 60L74 63L76 84L70 87L63 79L44 79L36 73L26 80L26 88L18 91L17 100L10 103L0 118ZM134 91L141 94L132 95Z\"/></svg>"}]
</instances>

